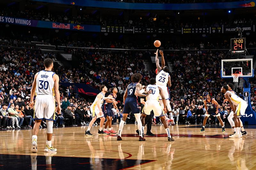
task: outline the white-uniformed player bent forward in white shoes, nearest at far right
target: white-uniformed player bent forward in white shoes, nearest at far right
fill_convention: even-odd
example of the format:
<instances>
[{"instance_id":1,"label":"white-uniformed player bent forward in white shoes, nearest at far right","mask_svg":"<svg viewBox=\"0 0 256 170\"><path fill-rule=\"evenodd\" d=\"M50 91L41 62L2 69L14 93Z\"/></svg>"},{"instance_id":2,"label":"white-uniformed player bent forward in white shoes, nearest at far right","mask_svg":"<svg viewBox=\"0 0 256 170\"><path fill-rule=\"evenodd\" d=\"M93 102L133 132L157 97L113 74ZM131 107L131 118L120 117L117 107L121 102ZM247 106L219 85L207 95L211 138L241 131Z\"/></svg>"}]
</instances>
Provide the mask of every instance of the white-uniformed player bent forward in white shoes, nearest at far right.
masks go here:
<instances>
[{"instance_id":1,"label":"white-uniformed player bent forward in white shoes, nearest at far right","mask_svg":"<svg viewBox=\"0 0 256 170\"><path fill-rule=\"evenodd\" d=\"M234 113L234 122L235 122L236 132L240 132L241 125L240 125L239 117L245 114L245 109L247 107L247 103L246 103L246 101L241 99L239 96L237 96L235 93L228 91L227 85L223 85L221 87L221 92L225 94L225 98L228 99L232 110L233 111L236 110L236 112ZM235 133L229 137L239 138L240 134Z\"/></svg>"}]
</instances>

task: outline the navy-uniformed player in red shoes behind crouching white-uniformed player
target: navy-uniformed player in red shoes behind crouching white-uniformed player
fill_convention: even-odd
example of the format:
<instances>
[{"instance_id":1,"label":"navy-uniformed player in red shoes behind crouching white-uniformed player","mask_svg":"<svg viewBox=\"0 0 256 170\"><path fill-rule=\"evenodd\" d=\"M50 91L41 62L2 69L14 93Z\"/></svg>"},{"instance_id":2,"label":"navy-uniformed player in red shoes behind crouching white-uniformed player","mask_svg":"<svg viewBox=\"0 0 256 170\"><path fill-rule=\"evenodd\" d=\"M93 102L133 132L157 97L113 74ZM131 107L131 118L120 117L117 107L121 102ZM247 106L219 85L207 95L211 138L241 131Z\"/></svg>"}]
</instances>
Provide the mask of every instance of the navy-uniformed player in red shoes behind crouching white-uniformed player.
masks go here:
<instances>
[{"instance_id":1,"label":"navy-uniformed player in red shoes behind crouching white-uniformed player","mask_svg":"<svg viewBox=\"0 0 256 170\"><path fill-rule=\"evenodd\" d=\"M118 90L117 90L116 87L112 87L111 90L112 90L113 93L109 94L108 97L114 98L116 100L116 93L118 92ZM117 112L119 112L116 104L117 104L117 101L113 102L112 100L107 99L107 100L105 100L105 103L102 106L102 111L104 113L105 118L107 119L107 121L105 122L105 126L104 126L104 132L107 133L107 134L116 133L116 131L111 129L112 116L113 116L111 109L113 108L113 105L116 108Z\"/></svg>"}]
</instances>

